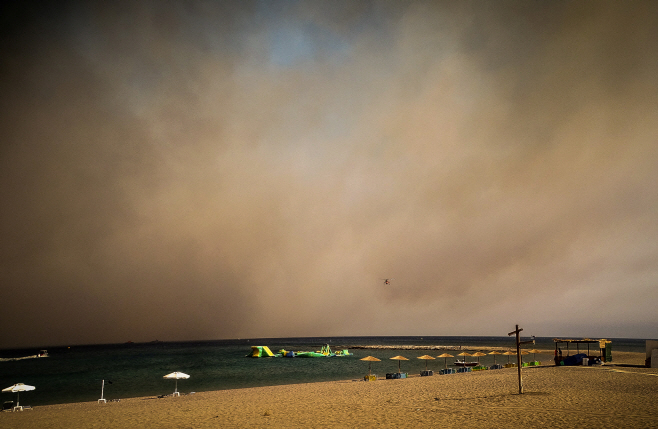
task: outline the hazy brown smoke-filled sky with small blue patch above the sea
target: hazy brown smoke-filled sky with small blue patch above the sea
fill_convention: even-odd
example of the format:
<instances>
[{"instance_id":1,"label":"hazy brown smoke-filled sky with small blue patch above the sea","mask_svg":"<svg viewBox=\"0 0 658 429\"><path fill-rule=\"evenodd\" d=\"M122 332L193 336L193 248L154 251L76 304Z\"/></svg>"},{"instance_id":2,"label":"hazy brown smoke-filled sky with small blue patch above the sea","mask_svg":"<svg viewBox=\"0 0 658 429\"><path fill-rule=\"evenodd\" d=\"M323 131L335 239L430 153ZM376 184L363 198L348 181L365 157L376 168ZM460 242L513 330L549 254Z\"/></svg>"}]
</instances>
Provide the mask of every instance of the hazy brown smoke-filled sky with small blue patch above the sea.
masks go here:
<instances>
[{"instance_id":1,"label":"hazy brown smoke-filled sky with small blue patch above the sea","mask_svg":"<svg viewBox=\"0 0 658 429\"><path fill-rule=\"evenodd\" d=\"M658 336L657 2L0 8L0 348Z\"/></svg>"}]
</instances>

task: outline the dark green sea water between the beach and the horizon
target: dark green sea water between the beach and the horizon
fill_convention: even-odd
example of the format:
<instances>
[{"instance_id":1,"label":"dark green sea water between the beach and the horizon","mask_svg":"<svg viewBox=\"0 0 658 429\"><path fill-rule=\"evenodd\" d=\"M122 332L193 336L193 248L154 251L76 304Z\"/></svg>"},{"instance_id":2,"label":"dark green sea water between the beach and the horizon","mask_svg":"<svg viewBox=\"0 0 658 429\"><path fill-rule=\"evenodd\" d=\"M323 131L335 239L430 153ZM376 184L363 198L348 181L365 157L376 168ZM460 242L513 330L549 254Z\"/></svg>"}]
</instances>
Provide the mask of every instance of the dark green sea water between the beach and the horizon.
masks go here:
<instances>
[{"instance_id":1,"label":"dark green sea water between the beach and the horizon","mask_svg":"<svg viewBox=\"0 0 658 429\"><path fill-rule=\"evenodd\" d=\"M333 350L353 345L442 345L463 347L514 347L513 337L330 337L330 338L269 338L245 340L217 340L190 342L152 342L104 344L48 348L49 357L0 361L0 387L24 383L36 390L24 392L24 405L48 405L70 402L96 401L105 380L107 400L158 396L174 391L174 380L162 377L174 371L190 375L178 381L181 393L209 390L240 389L293 383L332 380L357 380L367 374L368 363L359 359L372 355L381 362L373 362L373 374L384 376L397 372L398 362L389 358L402 355L409 361L401 362L402 372L419 373L425 361L418 356L438 356L441 350L371 350L350 349L353 356L331 358L247 358L251 346L315 351L323 344ZM530 345L529 348L533 346ZM552 338L536 338L538 349L554 350ZM645 340L612 339L615 351L644 352ZM0 350L0 358L34 355L38 348ZM455 355L455 352L448 351ZM515 359L516 357L512 357ZM528 356L527 358L530 358ZM527 360L526 358L526 360ZM551 360L553 353L537 355L537 360ZM507 356L496 356L498 363L506 363ZM455 359L448 358L448 367ZM484 365L492 365L494 356L480 358ZM428 361L428 369L438 370L444 359ZM108 382L111 381L112 384ZM2 393L2 401L15 400L16 395Z\"/></svg>"}]
</instances>

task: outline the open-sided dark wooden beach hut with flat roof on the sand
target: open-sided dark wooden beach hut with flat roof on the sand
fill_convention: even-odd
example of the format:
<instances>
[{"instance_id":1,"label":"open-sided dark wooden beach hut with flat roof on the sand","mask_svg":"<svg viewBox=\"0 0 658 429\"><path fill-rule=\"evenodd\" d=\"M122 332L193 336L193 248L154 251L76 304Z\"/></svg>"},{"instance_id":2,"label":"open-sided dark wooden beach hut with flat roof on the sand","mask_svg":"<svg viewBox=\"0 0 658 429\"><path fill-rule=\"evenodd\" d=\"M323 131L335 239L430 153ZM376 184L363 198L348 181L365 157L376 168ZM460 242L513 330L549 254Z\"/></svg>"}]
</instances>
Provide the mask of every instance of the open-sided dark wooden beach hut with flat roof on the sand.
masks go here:
<instances>
[{"instance_id":1,"label":"open-sided dark wooden beach hut with flat roof on the sand","mask_svg":"<svg viewBox=\"0 0 658 429\"><path fill-rule=\"evenodd\" d=\"M610 340L553 338L553 342L555 342L555 365L573 366L591 365L594 362L612 362L612 341ZM587 352L585 352L585 348Z\"/></svg>"}]
</instances>

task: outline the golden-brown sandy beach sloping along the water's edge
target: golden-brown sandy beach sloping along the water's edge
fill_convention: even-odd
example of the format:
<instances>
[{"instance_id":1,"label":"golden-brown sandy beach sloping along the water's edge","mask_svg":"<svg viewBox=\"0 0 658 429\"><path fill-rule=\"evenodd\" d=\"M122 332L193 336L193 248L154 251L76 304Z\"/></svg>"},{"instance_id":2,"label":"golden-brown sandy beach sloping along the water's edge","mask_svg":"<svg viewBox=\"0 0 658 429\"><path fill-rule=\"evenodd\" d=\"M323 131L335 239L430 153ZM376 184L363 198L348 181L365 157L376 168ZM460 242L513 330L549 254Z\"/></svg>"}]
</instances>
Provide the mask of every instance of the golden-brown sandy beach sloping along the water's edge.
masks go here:
<instances>
[{"instance_id":1,"label":"golden-brown sandy beach sloping along the water's edge","mask_svg":"<svg viewBox=\"0 0 658 429\"><path fill-rule=\"evenodd\" d=\"M658 427L658 370L641 368L644 357L617 352L613 365L524 368L523 395L508 368L37 406L0 413L0 427Z\"/></svg>"}]
</instances>

